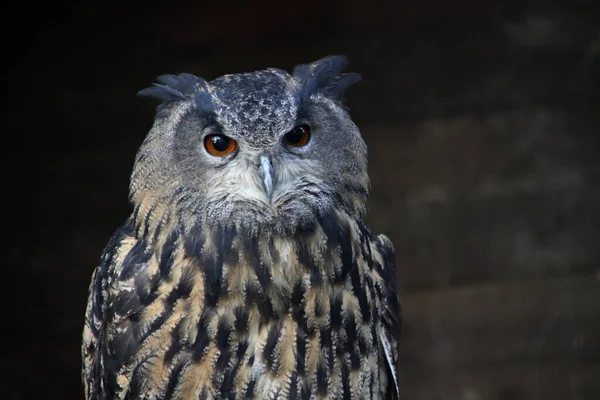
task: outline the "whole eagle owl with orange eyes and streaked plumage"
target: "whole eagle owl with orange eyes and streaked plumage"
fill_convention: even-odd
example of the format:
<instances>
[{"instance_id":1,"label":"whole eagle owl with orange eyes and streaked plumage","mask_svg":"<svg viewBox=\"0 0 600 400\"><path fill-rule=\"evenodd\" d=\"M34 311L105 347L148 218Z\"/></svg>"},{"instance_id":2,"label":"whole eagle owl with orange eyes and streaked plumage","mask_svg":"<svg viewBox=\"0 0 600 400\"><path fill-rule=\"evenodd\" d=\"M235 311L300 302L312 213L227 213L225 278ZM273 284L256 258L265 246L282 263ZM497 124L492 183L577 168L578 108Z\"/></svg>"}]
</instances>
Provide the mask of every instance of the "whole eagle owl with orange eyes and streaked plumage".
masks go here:
<instances>
[{"instance_id":1,"label":"whole eagle owl with orange eyes and streaked plumage","mask_svg":"<svg viewBox=\"0 0 600 400\"><path fill-rule=\"evenodd\" d=\"M364 222L346 59L163 75L132 215L93 273L87 399L391 399L394 250Z\"/></svg>"}]
</instances>

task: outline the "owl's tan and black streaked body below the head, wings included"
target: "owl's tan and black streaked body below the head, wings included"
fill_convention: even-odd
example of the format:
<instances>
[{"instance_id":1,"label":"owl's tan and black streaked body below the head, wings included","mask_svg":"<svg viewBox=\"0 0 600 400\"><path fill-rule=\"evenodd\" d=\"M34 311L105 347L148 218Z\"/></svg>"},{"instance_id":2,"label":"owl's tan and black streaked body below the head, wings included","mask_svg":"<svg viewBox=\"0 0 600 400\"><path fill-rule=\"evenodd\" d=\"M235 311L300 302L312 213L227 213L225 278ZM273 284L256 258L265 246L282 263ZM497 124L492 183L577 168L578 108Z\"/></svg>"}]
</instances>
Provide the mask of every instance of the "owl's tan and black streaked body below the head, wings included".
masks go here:
<instances>
[{"instance_id":1,"label":"owl's tan and black streaked body below the head, wings included","mask_svg":"<svg viewBox=\"0 0 600 400\"><path fill-rule=\"evenodd\" d=\"M90 286L88 400L397 398L385 236L344 212L293 236L139 221L115 233Z\"/></svg>"}]
</instances>

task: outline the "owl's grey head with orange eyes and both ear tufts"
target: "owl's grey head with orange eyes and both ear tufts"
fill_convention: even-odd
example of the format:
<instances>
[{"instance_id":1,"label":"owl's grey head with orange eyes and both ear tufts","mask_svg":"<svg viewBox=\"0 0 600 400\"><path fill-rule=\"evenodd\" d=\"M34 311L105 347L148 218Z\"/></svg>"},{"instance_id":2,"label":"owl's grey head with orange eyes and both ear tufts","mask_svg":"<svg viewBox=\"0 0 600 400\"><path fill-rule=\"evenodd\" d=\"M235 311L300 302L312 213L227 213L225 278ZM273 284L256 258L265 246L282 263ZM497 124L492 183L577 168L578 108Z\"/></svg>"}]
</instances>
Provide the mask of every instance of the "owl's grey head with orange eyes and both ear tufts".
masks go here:
<instances>
[{"instance_id":1,"label":"owl's grey head with orange eyes and both ear tufts","mask_svg":"<svg viewBox=\"0 0 600 400\"><path fill-rule=\"evenodd\" d=\"M162 100L133 169L136 212L294 232L333 210L362 217L367 150L341 103L360 80L345 57L207 82L164 75Z\"/></svg>"}]
</instances>

